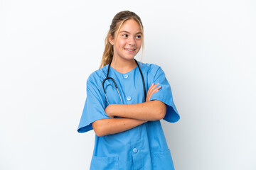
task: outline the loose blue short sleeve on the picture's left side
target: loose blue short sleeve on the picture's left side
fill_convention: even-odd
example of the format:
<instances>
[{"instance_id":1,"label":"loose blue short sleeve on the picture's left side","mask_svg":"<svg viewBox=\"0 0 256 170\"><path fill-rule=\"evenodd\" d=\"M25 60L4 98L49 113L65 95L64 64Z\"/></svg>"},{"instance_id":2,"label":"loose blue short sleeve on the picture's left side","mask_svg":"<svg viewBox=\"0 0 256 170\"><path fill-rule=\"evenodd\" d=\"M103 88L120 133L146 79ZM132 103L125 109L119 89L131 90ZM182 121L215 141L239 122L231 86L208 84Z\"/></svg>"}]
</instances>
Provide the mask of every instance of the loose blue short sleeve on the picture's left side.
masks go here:
<instances>
[{"instance_id":1,"label":"loose blue short sleeve on the picture's left side","mask_svg":"<svg viewBox=\"0 0 256 170\"><path fill-rule=\"evenodd\" d=\"M78 126L80 133L92 130L92 123L95 120L109 118L105 113L105 98L99 88L95 79L87 79L87 97Z\"/></svg>"}]
</instances>

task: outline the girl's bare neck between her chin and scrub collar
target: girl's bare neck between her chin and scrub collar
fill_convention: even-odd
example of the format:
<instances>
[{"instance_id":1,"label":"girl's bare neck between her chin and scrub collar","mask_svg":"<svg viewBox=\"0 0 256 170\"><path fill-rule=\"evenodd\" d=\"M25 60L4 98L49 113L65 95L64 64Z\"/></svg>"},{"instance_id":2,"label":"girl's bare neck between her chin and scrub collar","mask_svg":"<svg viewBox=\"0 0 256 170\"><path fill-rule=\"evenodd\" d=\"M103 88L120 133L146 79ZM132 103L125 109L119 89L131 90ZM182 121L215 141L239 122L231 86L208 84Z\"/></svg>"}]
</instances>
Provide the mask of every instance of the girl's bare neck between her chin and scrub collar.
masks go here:
<instances>
[{"instance_id":1,"label":"girl's bare neck between her chin and scrub collar","mask_svg":"<svg viewBox=\"0 0 256 170\"><path fill-rule=\"evenodd\" d=\"M117 59L116 57L113 57L113 60L111 62L111 67L117 72L120 73L127 73L137 67L137 64L134 59L132 60L122 60L122 59Z\"/></svg>"}]
</instances>

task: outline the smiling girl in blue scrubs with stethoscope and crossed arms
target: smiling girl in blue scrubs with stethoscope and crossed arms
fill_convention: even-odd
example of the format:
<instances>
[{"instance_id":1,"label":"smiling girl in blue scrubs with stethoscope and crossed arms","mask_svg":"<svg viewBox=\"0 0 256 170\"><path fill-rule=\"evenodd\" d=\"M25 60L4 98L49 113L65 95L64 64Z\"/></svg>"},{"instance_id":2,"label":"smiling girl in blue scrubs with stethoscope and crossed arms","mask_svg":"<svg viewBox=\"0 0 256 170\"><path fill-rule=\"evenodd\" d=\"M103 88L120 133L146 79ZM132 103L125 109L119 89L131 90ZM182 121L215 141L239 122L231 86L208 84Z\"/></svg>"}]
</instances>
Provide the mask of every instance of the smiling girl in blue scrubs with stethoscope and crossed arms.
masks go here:
<instances>
[{"instance_id":1,"label":"smiling girl in blue scrubs with stethoscope and crossed arms","mask_svg":"<svg viewBox=\"0 0 256 170\"><path fill-rule=\"evenodd\" d=\"M96 133L90 169L174 169L159 120L179 115L161 67L134 59L143 37L136 13L117 13L100 69L87 79L78 132Z\"/></svg>"}]
</instances>

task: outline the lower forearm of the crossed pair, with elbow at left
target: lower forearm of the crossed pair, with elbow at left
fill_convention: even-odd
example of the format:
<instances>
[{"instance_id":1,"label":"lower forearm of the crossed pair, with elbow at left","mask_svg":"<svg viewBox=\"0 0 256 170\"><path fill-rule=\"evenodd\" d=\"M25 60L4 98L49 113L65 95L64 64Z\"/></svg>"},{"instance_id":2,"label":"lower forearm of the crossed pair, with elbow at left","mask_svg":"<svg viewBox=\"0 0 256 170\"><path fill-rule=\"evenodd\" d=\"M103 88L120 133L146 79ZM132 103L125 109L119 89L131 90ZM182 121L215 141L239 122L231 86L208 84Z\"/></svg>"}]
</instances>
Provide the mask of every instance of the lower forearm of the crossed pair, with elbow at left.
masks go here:
<instances>
[{"instance_id":1,"label":"lower forearm of the crossed pair, with elbow at left","mask_svg":"<svg viewBox=\"0 0 256 170\"><path fill-rule=\"evenodd\" d=\"M137 120L131 118L107 118L96 120L92 123L92 128L97 136L105 136L125 130L132 129L138 125L146 123L146 120Z\"/></svg>"}]
</instances>

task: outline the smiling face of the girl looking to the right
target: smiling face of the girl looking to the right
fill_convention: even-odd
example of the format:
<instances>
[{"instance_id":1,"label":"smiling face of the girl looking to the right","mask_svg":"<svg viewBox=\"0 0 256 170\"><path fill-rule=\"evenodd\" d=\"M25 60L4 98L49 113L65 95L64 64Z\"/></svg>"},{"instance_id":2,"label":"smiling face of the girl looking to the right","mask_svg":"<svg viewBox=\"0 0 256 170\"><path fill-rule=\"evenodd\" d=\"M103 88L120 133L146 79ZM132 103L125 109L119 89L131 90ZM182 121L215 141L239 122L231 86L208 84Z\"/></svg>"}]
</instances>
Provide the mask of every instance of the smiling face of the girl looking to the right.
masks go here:
<instances>
[{"instance_id":1,"label":"smiling face of the girl looking to the right","mask_svg":"<svg viewBox=\"0 0 256 170\"><path fill-rule=\"evenodd\" d=\"M114 38L110 35L110 43L114 47L114 57L119 60L132 60L142 46L142 30L137 21L124 21L119 33Z\"/></svg>"}]
</instances>

